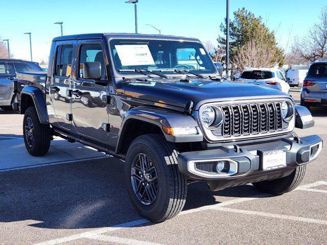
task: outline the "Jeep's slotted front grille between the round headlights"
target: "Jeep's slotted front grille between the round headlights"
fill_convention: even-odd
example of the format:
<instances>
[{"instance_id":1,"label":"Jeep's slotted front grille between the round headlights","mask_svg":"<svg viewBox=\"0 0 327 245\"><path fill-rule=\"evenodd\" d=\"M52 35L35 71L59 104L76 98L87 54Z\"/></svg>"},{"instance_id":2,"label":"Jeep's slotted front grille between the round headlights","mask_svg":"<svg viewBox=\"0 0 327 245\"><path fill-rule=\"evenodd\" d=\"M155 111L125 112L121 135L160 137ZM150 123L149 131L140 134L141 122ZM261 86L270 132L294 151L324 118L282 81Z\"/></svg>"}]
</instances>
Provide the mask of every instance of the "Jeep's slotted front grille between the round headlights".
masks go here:
<instances>
[{"instance_id":1,"label":"Jeep's slotted front grille between the round headlights","mask_svg":"<svg viewBox=\"0 0 327 245\"><path fill-rule=\"evenodd\" d=\"M213 133L223 137L283 130L280 102L221 106L225 120Z\"/></svg>"}]
</instances>

